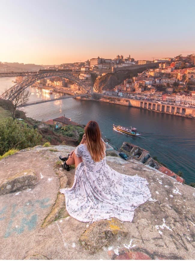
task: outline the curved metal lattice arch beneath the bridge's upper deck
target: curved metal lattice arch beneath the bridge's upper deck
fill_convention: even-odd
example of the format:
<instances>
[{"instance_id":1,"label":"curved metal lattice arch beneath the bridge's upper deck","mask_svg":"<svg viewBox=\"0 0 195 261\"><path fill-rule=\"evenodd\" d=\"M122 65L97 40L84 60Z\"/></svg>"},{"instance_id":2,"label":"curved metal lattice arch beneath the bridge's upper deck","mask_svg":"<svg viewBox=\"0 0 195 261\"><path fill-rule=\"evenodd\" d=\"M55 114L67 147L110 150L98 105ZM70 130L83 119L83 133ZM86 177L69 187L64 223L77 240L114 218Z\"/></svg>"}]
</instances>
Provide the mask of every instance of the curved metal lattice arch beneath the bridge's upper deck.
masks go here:
<instances>
[{"instance_id":1,"label":"curved metal lattice arch beneath the bridge's upper deck","mask_svg":"<svg viewBox=\"0 0 195 261\"><path fill-rule=\"evenodd\" d=\"M29 76L27 79L23 80L22 82L15 84L13 87L5 91L0 97L1 99L13 101L18 95L18 93L22 92L33 83L37 82L38 80L48 78L48 77L54 77L54 76L66 78L72 82L77 83L83 93L88 93L90 95L89 90L87 90L83 82L78 77L74 76L72 73L61 72L61 71L50 71L50 72L44 71L44 72L37 72L35 75Z\"/></svg>"}]
</instances>

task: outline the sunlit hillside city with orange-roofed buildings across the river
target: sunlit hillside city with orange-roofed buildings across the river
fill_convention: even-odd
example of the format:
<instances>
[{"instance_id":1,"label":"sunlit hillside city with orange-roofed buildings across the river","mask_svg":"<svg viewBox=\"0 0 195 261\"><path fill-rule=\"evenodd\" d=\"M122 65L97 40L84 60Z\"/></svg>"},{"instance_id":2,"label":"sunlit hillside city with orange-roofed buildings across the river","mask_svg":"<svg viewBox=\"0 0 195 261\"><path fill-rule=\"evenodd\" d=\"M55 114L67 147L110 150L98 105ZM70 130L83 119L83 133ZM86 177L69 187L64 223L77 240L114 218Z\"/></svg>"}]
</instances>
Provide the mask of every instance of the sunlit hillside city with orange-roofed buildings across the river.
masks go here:
<instances>
[{"instance_id":1,"label":"sunlit hillside city with orange-roofed buildings across the river","mask_svg":"<svg viewBox=\"0 0 195 261\"><path fill-rule=\"evenodd\" d=\"M0 72L10 71L30 71L30 70L72 70L78 71L79 79L91 85L91 73L94 72L98 79L107 73L112 73L113 68L131 67L132 65L142 65L157 63L158 68L146 69L137 76L125 79L121 84L112 86L113 88L103 88L101 93L109 96L119 96L124 98L157 101L159 103L182 104L185 106L195 106L195 55L178 55L175 58L158 58L153 61L135 61L129 55L117 55L114 59L91 58L85 62L64 63L60 65L35 65L0 62ZM24 77L16 77L16 82L20 82ZM60 77L42 79L36 86L50 86L61 88L72 93L81 92L76 83Z\"/></svg>"}]
</instances>

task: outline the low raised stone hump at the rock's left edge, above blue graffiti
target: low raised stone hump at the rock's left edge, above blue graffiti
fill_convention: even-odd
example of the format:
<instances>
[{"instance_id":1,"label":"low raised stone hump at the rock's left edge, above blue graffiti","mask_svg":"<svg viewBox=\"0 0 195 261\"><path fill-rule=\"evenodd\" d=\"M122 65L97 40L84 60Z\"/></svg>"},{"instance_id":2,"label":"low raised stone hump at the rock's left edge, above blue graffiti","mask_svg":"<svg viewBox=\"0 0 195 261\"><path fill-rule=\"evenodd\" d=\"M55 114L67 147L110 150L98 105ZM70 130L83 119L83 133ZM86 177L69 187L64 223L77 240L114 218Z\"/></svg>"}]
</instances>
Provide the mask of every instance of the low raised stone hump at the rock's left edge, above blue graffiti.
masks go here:
<instances>
[{"instance_id":1,"label":"low raised stone hump at the rock's left edge, above blue graffiti","mask_svg":"<svg viewBox=\"0 0 195 261\"><path fill-rule=\"evenodd\" d=\"M19 171L8 177L7 175L1 175L0 195L24 190L34 186L37 182L38 177L36 176L35 170L32 169Z\"/></svg>"}]
</instances>

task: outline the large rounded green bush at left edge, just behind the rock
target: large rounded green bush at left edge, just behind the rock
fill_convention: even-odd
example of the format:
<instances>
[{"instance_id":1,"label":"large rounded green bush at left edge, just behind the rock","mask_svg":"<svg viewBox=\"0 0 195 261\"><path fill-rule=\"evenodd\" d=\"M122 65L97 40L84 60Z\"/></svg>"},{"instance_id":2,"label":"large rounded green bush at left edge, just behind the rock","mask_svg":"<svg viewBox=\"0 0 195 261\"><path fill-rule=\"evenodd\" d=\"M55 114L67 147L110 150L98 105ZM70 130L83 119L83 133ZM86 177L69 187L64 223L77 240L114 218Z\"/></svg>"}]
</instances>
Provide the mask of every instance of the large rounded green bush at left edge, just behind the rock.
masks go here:
<instances>
[{"instance_id":1,"label":"large rounded green bush at left edge, just behind the rock","mask_svg":"<svg viewBox=\"0 0 195 261\"><path fill-rule=\"evenodd\" d=\"M10 149L25 149L40 144L42 136L29 125L4 119L0 125L0 155Z\"/></svg>"}]
</instances>

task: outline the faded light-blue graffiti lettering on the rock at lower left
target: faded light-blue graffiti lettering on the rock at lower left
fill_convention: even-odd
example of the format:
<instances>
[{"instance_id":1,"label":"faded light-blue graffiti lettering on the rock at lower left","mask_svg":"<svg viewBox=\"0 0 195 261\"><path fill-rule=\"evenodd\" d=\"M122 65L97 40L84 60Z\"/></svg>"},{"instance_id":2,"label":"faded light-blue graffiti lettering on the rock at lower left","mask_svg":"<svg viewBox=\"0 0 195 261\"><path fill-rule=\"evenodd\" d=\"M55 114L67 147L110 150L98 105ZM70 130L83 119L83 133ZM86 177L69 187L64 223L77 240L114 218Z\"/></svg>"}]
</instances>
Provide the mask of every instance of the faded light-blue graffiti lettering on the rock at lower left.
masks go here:
<instances>
[{"instance_id":1,"label":"faded light-blue graffiti lettering on the rock at lower left","mask_svg":"<svg viewBox=\"0 0 195 261\"><path fill-rule=\"evenodd\" d=\"M12 211L10 214L10 220L6 228L4 238L8 238L14 232L20 235L25 231L25 229L28 229L29 231L35 229L38 220L38 214L36 214L35 211L38 207L40 208L50 207L51 204L47 204L49 200L50 200L49 198L35 200L34 202L29 200L21 208L17 208L17 205L13 204ZM6 210L7 210L7 206L4 206L0 210L0 216L2 214L5 214ZM23 213L23 217L18 219L17 216L21 212ZM35 214L33 214L33 212L35 212ZM0 217L0 220L4 220L5 217ZM13 227L13 224L15 223L19 225Z\"/></svg>"}]
</instances>

